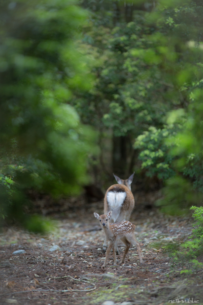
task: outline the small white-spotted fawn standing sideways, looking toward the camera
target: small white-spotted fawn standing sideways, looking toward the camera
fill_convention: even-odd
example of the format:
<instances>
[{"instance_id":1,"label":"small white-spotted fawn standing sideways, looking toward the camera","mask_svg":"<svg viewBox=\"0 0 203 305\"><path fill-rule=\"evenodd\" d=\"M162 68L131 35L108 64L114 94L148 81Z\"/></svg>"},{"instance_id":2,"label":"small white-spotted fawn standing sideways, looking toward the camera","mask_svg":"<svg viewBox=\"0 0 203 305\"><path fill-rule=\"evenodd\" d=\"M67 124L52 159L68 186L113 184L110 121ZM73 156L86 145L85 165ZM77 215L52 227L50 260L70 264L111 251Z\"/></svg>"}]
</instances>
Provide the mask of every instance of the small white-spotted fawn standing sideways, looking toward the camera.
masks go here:
<instances>
[{"instance_id":1,"label":"small white-spotted fawn standing sideways, looking toward the camera","mask_svg":"<svg viewBox=\"0 0 203 305\"><path fill-rule=\"evenodd\" d=\"M106 253L106 258L103 263L103 267L106 267L107 259L109 256L109 253L111 251L111 248L113 248L114 253L114 265L116 265L116 241L117 238L121 239L121 241L125 245L125 252L121 259L121 263L124 262L124 259L126 257L126 254L128 253L128 250L131 246L131 243L136 246L140 258L140 263L142 263L142 256L141 256L141 249L138 241L135 239L134 231L135 231L135 225L131 224L130 221L119 221L114 224L110 224L109 220L112 217L112 211L107 213L107 215L100 215L97 213L94 213L94 216L99 219L100 226L103 228L105 235L107 239L110 241L109 246Z\"/></svg>"}]
</instances>

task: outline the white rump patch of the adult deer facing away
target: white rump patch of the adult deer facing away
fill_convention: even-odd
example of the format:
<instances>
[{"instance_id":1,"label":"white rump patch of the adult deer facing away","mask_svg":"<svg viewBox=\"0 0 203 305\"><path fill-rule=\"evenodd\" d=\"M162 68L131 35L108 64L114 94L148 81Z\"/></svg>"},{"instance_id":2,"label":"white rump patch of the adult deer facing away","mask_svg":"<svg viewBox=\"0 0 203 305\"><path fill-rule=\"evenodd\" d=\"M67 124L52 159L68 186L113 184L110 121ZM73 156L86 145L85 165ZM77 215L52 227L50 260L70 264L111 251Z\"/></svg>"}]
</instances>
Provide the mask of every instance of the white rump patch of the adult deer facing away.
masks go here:
<instances>
[{"instance_id":1,"label":"white rump patch of the adult deer facing away","mask_svg":"<svg viewBox=\"0 0 203 305\"><path fill-rule=\"evenodd\" d=\"M107 202L109 210L112 211L111 220L115 222L120 214L121 206L126 198L126 192L108 192Z\"/></svg>"}]
</instances>

